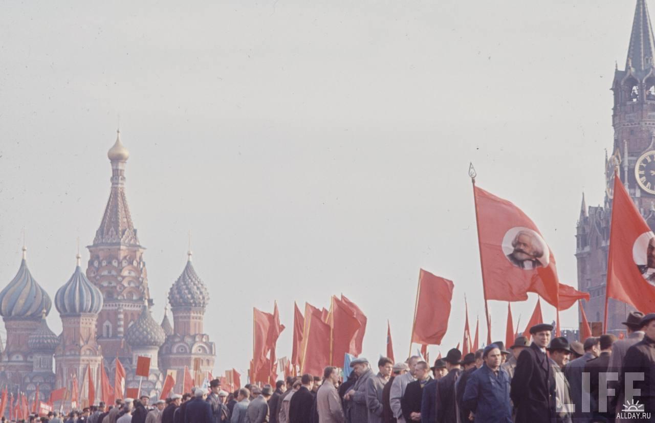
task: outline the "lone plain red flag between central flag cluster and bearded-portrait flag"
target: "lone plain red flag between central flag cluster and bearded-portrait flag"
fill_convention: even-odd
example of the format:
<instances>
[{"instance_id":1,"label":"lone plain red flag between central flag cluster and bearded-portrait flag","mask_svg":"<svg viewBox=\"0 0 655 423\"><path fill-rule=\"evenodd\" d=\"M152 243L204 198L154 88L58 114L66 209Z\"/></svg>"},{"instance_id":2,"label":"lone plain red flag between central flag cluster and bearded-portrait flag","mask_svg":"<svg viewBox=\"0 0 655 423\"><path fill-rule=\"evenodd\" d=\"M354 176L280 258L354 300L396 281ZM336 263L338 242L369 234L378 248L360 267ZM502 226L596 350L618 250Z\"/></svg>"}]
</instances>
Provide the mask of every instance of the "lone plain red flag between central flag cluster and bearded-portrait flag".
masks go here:
<instances>
[{"instance_id":1,"label":"lone plain red flag between central flag cluster and bearded-portrait flag","mask_svg":"<svg viewBox=\"0 0 655 423\"><path fill-rule=\"evenodd\" d=\"M441 344L448 329L453 282L421 269L411 342Z\"/></svg>"}]
</instances>

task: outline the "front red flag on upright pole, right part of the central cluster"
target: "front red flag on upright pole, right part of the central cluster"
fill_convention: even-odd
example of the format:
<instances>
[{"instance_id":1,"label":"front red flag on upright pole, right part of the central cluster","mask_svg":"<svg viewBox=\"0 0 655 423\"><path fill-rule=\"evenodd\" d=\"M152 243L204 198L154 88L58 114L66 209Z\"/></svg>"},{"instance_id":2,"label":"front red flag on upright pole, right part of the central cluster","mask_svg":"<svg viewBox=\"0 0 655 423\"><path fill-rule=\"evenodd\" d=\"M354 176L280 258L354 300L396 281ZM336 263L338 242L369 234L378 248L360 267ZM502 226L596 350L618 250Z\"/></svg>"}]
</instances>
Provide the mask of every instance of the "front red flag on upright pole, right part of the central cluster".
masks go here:
<instances>
[{"instance_id":1,"label":"front red flag on upright pole, right part of the central cluster","mask_svg":"<svg viewBox=\"0 0 655 423\"><path fill-rule=\"evenodd\" d=\"M332 297L331 310L332 314L329 322L332 326L332 344L331 348L329 348L331 365L343 367L346 353L356 355L356 351L351 348L356 344L355 337L360 329L360 322L357 320L352 308L335 296Z\"/></svg>"}]
</instances>

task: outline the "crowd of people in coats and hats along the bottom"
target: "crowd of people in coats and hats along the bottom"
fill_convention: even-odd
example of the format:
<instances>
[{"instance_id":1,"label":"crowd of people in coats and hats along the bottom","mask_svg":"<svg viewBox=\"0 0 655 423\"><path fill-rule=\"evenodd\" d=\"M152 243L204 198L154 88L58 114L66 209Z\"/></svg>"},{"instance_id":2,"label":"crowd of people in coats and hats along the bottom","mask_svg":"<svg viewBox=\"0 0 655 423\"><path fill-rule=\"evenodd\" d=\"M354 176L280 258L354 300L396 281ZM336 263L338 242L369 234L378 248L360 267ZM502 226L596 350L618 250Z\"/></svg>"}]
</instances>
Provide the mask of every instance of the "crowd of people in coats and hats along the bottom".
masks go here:
<instances>
[{"instance_id":1,"label":"crowd of people in coats and hats along the bottom","mask_svg":"<svg viewBox=\"0 0 655 423\"><path fill-rule=\"evenodd\" d=\"M149 406L150 398L31 417L29 423L599 423L629 421L622 416L629 377L638 397L655 405L655 313L631 312L625 339L614 335L569 342L552 337L553 326L530 328L531 341L517 337L505 348L493 342L462 356L449 350L430 366L420 356L402 363L381 357L377 373L365 358L322 377L302 375L276 386L247 384L225 392L218 379L210 392L193 388ZM616 377L608 376L608 372ZM609 388L609 390L608 390ZM632 391L629 392L632 394ZM653 409L655 411L655 409ZM655 414L655 413L653 413ZM8 420L2 418L2 423Z\"/></svg>"}]
</instances>

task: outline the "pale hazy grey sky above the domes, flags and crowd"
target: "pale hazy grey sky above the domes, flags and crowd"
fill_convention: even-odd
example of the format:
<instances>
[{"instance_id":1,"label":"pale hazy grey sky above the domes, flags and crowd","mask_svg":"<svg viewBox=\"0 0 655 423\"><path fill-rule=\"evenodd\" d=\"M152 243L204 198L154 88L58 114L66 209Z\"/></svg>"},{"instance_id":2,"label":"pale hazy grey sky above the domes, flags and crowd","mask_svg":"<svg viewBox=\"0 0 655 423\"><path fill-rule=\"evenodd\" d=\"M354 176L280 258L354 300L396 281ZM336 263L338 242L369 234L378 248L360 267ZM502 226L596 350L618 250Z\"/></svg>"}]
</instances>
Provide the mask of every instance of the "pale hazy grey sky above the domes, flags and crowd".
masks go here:
<instances>
[{"instance_id":1,"label":"pale hazy grey sky above the domes, flags and crowd","mask_svg":"<svg viewBox=\"0 0 655 423\"><path fill-rule=\"evenodd\" d=\"M470 161L577 285L581 194L603 202L634 1L200 3L1 3L2 284L22 227L39 284L54 298L67 281L102 218L120 115L153 315L191 230L217 371L245 373L253 306L278 301L281 357L293 301L339 293L369 318L364 355L384 353L389 319L402 358L420 267L455 282L433 357L462 339L464 293L483 323ZM534 301L512 306L521 330ZM504 340L506 303L490 307Z\"/></svg>"}]
</instances>

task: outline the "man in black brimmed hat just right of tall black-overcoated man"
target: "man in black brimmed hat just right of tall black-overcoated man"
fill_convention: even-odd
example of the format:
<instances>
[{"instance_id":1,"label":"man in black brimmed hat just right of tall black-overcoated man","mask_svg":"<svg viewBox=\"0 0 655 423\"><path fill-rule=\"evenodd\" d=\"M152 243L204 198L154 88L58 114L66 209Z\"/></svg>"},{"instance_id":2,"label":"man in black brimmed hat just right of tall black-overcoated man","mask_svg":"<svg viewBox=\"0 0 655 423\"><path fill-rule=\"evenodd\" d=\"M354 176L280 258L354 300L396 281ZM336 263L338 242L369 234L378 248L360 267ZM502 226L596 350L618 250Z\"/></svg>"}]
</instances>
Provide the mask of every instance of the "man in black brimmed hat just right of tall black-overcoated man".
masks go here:
<instances>
[{"instance_id":1,"label":"man in black brimmed hat just right of tall black-overcoated man","mask_svg":"<svg viewBox=\"0 0 655 423\"><path fill-rule=\"evenodd\" d=\"M555 397L553 407L557 422L571 422L572 409L571 386L565 377L562 368L567 365L571 358L571 345L565 337L557 337L550 341L546 348L550 354L553 371L550 373L551 384L555 386Z\"/></svg>"}]
</instances>

